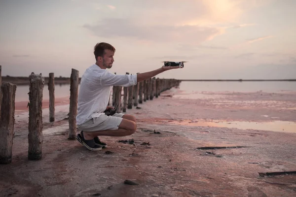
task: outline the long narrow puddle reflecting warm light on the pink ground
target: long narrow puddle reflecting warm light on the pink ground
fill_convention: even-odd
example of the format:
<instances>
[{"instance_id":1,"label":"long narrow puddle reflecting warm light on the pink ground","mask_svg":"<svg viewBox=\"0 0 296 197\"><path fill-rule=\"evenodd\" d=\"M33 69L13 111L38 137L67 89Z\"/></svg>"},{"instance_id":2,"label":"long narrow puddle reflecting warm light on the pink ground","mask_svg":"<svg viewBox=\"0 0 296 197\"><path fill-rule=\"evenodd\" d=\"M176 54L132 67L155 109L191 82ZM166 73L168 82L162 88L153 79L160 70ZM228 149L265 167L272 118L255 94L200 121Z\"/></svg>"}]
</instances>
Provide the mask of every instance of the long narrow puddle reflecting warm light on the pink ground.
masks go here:
<instances>
[{"instance_id":1,"label":"long narrow puddle reflecting warm light on the pink ground","mask_svg":"<svg viewBox=\"0 0 296 197\"><path fill-rule=\"evenodd\" d=\"M263 131L277 131L277 132L293 132L296 133L296 123L289 121L273 121L273 122L206 122L206 121L170 121L169 124L186 125L186 126L200 126L200 127L227 127L237 129L253 129Z\"/></svg>"}]
</instances>

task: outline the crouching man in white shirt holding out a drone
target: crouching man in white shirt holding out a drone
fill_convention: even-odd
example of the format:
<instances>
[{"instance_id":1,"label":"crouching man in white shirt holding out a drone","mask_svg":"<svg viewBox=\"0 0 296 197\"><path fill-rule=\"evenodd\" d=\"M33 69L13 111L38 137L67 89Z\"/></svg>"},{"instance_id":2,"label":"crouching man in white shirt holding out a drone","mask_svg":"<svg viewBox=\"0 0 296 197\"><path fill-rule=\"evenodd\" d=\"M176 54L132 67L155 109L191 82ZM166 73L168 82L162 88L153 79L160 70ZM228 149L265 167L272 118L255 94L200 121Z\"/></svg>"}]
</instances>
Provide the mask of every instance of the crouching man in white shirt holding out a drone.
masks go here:
<instances>
[{"instance_id":1,"label":"crouching man in white shirt holding out a drone","mask_svg":"<svg viewBox=\"0 0 296 197\"><path fill-rule=\"evenodd\" d=\"M76 139L92 151L106 148L98 136L125 136L137 129L136 118L132 115L115 113L105 115L108 106L111 86L132 86L149 79L163 71L179 68L162 66L156 70L135 75L115 75L106 70L114 62L115 48L108 43L97 43L94 47L96 64L88 67L81 77L78 93L77 129L81 132Z\"/></svg>"}]
</instances>

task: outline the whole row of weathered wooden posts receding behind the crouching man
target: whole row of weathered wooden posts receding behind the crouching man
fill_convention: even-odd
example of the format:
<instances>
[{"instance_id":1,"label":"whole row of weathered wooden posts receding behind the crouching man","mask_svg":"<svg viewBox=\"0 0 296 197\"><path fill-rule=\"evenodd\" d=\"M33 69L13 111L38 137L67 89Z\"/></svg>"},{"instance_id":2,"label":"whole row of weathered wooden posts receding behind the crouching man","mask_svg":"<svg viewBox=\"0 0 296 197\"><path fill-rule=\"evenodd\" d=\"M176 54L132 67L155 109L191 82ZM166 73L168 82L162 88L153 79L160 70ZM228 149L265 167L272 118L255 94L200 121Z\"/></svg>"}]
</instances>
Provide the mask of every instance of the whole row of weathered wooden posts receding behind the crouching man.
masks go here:
<instances>
[{"instance_id":1,"label":"whole row of weathered wooden posts receding behind the crouching man","mask_svg":"<svg viewBox=\"0 0 296 197\"><path fill-rule=\"evenodd\" d=\"M129 73L126 73L129 74ZM28 159L40 160L42 157L43 143L43 122L42 122L42 97L44 88L44 77L40 74L31 73L29 90L29 125L28 125ZM175 79L147 79L134 86L123 88L123 108L132 109L132 105L138 105L158 97L161 92L179 85L180 81ZM75 139L76 134L76 115L78 104L78 84L79 71L72 69L70 81L70 109L69 109L69 136L68 139ZM17 86L12 83L1 85L1 66L0 66L0 164L10 164L12 158L12 144L14 135L14 111L15 111L15 92ZM49 121L55 121L54 113L54 73L49 73ZM117 113L121 112L121 86L113 87L112 105L117 107ZM1 95L2 94L2 95Z\"/></svg>"}]
</instances>

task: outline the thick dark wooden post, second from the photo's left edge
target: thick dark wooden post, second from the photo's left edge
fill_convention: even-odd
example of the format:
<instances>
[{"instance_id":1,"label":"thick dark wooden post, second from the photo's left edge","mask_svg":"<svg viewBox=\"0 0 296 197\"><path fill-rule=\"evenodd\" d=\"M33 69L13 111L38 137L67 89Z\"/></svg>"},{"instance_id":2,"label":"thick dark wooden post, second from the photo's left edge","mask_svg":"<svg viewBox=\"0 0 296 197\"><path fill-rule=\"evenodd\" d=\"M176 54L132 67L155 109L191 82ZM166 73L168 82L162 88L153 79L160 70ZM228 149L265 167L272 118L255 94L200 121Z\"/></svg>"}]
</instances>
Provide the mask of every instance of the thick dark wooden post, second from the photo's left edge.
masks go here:
<instances>
[{"instance_id":1,"label":"thick dark wooden post, second from the photo's left edge","mask_svg":"<svg viewBox=\"0 0 296 197\"><path fill-rule=\"evenodd\" d=\"M30 75L29 92L29 160L40 160L42 157L42 97L44 88L44 77L34 72Z\"/></svg>"}]
</instances>

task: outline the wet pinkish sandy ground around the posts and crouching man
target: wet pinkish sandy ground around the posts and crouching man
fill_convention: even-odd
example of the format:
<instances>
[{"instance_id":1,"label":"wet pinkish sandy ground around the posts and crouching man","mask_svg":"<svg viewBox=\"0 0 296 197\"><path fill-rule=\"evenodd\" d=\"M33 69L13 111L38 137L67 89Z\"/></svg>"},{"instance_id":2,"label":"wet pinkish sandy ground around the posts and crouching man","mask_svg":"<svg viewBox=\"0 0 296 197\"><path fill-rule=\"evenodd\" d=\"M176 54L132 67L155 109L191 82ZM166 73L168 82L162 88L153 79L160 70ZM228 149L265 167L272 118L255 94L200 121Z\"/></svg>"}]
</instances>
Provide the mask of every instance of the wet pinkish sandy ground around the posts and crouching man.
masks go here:
<instances>
[{"instance_id":1,"label":"wet pinkish sandy ground around the posts and crouching man","mask_svg":"<svg viewBox=\"0 0 296 197\"><path fill-rule=\"evenodd\" d=\"M43 105L44 140L39 161L27 159L28 110L18 103L12 163L0 165L0 196L296 196L296 175L259 176L259 172L296 171L294 128L264 131L238 129L234 124L295 124L296 92L205 92L192 96L173 88L139 104L141 109L128 110L137 117L137 132L102 137L109 147L97 152L68 140L68 120L63 119L69 102L61 99L59 103L54 123L49 123L48 108ZM229 125L218 127L219 122ZM128 139L134 139L134 144L118 142ZM197 149L205 146L245 147ZM126 185L126 179L138 185Z\"/></svg>"}]
</instances>

